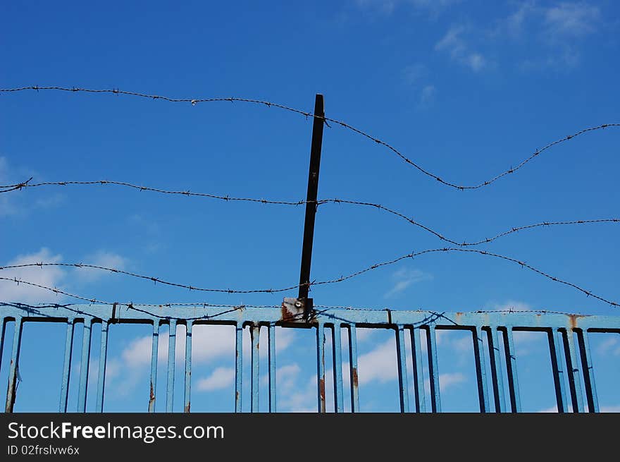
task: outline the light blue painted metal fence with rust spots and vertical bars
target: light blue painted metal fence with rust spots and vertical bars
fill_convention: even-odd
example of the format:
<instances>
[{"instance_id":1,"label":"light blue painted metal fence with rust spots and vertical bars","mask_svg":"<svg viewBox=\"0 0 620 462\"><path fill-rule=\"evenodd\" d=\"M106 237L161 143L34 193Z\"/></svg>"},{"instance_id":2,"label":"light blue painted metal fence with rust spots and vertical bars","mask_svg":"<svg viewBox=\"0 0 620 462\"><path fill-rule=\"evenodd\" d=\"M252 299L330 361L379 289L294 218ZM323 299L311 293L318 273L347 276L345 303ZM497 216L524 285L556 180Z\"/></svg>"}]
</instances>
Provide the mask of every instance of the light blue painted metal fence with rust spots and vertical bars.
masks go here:
<instances>
[{"instance_id":1,"label":"light blue painted metal fence with rust spots and vertical bars","mask_svg":"<svg viewBox=\"0 0 620 462\"><path fill-rule=\"evenodd\" d=\"M341 329L347 329L349 345L348 364L349 393L352 412L359 411L358 363L356 329L392 329L395 332L396 355L399 378L400 411L440 412L440 384L437 360L436 332L438 329L460 329L471 332L473 353L478 382L478 401L481 412L520 412L519 379L516 368L516 351L513 332L546 332L552 364L555 396L559 412L598 412L593 362L590 355L588 334L590 332L620 333L618 316L567 315L558 312L432 312L361 310L352 308L315 308L309 320L294 305L283 303L282 308L222 308L197 306L139 308L132 305L23 305L0 303L1 336L0 360L4 344L11 342L11 360L8 372L6 412L13 411L16 399L16 382L23 325L25 322L56 322L66 324L66 344L59 397L59 411L67 411L71 358L73 355L73 332L76 324L83 323L82 350L79 375L77 411L86 410L89 381L89 355L92 329L101 329L99 370L97 372L97 406L103 411L106 353L108 331L111 324L150 324L152 331L150 394L145 396L145 410L155 411L156 399L166 401L166 411L173 412L175 387L175 341L179 324L185 325L185 406L190 412L192 374L192 327L197 324L225 324L235 326L235 411L242 411L242 351L243 329L249 329L252 349L251 393L252 412L259 411L259 334L266 327L268 334L268 410L276 410L275 383L275 327L313 329L316 332L317 409L325 412L325 333L331 335L334 410L345 410L345 381L342 376L343 348ZM15 322L13 339L4 339L6 324ZM166 396L156 396L159 332L162 325L169 327ZM409 331L409 333L407 333ZM421 331L425 334L421 335ZM422 341L426 348L422 348ZM485 339L485 341L483 341ZM406 342L411 344L411 355L406 354ZM488 364L486 357L488 356ZM408 377L407 361L412 362L413 377ZM430 382L430 403L424 391L425 367ZM1 364L0 364L1 366ZM504 369L505 368L505 369ZM504 375L504 370L506 375ZM490 377L488 376L490 375ZM504 377L507 383L504 383ZM568 387L566 387L566 382ZM582 389L582 384L583 388ZM409 402L409 389L414 403ZM263 390L264 392L264 390ZM504 398L507 393L508 400ZM494 403L493 408L490 404ZM569 408L569 403L571 407Z\"/></svg>"}]
</instances>

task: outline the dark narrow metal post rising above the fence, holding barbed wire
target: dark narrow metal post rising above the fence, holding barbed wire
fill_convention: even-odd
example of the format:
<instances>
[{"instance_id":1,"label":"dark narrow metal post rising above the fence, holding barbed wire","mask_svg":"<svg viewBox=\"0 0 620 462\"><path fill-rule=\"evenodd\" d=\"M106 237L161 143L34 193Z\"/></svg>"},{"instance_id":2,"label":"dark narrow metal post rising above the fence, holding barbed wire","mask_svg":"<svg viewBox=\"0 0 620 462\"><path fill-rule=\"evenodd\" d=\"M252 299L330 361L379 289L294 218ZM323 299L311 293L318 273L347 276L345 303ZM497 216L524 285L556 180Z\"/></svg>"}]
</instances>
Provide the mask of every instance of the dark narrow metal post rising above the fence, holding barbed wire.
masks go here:
<instances>
[{"instance_id":1,"label":"dark narrow metal post rising above the fence, holding barbed wire","mask_svg":"<svg viewBox=\"0 0 620 462\"><path fill-rule=\"evenodd\" d=\"M321 166L321 145L323 143L323 123L325 107L323 95L316 95L314 100L314 124L310 147L310 170L308 174L308 193L306 195L306 221L304 223L304 243L302 245L302 268L299 274L299 302L304 305L304 318L307 319L312 308L308 298L310 289L310 264L312 260L312 242L314 240L314 216L316 214L316 195L318 193L318 170Z\"/></svg>"}]
</instances>

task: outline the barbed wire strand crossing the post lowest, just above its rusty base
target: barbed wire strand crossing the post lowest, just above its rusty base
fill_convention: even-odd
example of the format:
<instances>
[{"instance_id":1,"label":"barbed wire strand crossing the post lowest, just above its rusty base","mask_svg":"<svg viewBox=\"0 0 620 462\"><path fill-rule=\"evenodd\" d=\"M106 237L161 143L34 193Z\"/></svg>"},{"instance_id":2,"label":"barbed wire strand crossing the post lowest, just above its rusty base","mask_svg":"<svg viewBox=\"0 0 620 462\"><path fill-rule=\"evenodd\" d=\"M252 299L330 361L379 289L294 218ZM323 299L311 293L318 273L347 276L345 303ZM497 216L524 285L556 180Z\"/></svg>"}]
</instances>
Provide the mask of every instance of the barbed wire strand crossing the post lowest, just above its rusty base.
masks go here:
<instances>
[{"instance_id":1,"label":"barbed wire strand crossing the post lowest, just above its rusty base","mask_svg":"<svg viewBox=\"0 0 620 462\"><path fill-rule=\"evenodd\" d=\"M0 267L0 270L3 269L18 269L18 268L24 268L24 267L76 267L76 268L89 268L89 269L99 269L102 271L107 271L107 272L113 272L113 273L117 273L117 274L124 274L125 276L132 276L138 279L145 279L147 281L153 281L155 284L159 282L159 284L163 284L166 286L173 286L173 287L178 287L178 288L187 288L190 291L199 291L199 292L216 292L216 293L279 293L279 292L286 292L286 291L290 291L293 289L297 289L301 286L321 286L321 285L326 285L326 284L337 284L343 281L347 281L349 279L353 279L357 276L360 276L361 274L364 274L366 272L370 272L373 269L377 269L380 267L386 267L389 265L394 265L397 262L400 262L402 260L405 260L407 258L415 258L415 257L419 257L421 255L426 255L426 254L430 254L430 253L452 253L452 252L463 252L463 253L476 253L478 255L485 255L488 257L493 257L493 258L497 258L500 260L505 260L507 262L512 262L515 263L517 265L520 265L522 268L527 268L530 269L531 271L535 272L536 274L540 274L540 276L544 276L547 279L550 279L554 282L557 282L559 284L564 284L566 286L575 288L576 290L585 293L586 296L595 298L597 300L600 300L604 303L608 303L611 306L619 306L618 303L612 301L612 300L608 300L607 298L603 298L602 296L597 296L595 293L593 293L592 291L588 291L585 288L582 288L580 286L577 286L576 284L573 284L569 281L564 281L563 279L559 279L555 276L552 276L551 274L548 274L547 272L543 272L540 269L537 269L531 265L528 265L526 262L523 262L521 260L517 260L516 258L513 257L507 257L506 255L500 255L497 253L491 253L488 252L486 250L478 250L478 249L464 249L464 248L435 248L435 249L428 249L428 250L421 250L419 252L412 252L412 253L408 253L407 255L401 255L400 257L397 257L393 260L388 260L385 262L380 262L380 263L376 263L374 265L371 265L369 267L366 267L364 269L361 269L357 272L354 272L352 274L349 274L348 276L340 276L339 278L336 279L328 279L325 281L310 281L308 283L304 283L304 284L296 284L294 286L289 286L289 287L284 287L284 288L261 288L261 289L250 289L250 290L238 290L238 289L224 289L224 288L204 288L204 287L197 287L197 286L192 286L190 284L180 284L177 282L171 282L171 281L165 281L163 279L159 279L153 276L144 276L143 274L137 274L137 273L132 273L132 272L127 272L121 269L115 269L115 268L109 268L109 267L103 267L103 266L99 266L99 265L87 265L87 264L83 264L83 263L58 263L58 262L54 262L54 263L45 263L45 262L35 262L35 263L24 263L21 265L7 265L4 267ZM23 281L16 279L16 278L5 278L2 277L0 279L4 279L6 281L14 281L17 284L22 283ZM56 292L56 293L62 293L63 295L67 295L67 296L72 296L69 293L64 293L63 291L60 291L57 288L49 288L49 287L44 287L44 286L39 286L37 284L33 284L33 283L26 283L32 286L37 286L37 287L41 287L41 288L45 288L47 290ZM85 300L88 301L90 303L94 303L98 300L89 300L88 298L84 298L84 297L75 297L75 298L79 298L80 300Z\"/></svg>"}]
</instances>

